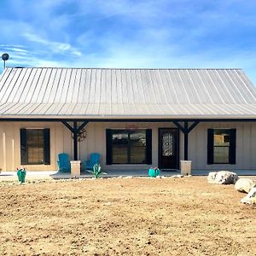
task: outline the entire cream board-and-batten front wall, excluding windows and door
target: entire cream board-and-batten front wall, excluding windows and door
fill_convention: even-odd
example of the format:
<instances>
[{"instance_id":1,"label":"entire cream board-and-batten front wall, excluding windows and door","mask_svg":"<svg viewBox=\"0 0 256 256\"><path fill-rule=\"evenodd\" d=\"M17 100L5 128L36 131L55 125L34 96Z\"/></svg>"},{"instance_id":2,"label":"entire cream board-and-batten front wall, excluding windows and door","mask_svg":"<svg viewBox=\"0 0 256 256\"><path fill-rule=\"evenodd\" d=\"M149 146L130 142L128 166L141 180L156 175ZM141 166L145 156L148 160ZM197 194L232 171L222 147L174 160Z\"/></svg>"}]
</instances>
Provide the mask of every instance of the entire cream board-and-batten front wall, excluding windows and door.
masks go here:
<instances>
[{"instance_id":1,"label":"entire cream board-and-batten front wall, excluding windows and door","mask_svg":"<svg viewBox=\"0 0 256 256\"><path fill-rule=\"evenodd\" d=\"M158 166L158 128L175 128L172 123L89 123L85 130L87 137L79 143L79 159L87 160L92 152L102 156L102 168L147 169L146 165L111 165L106 166L106 129L127 128L152 129L152 165ZM71 132L61 122L0 122L0 169L13 171L20 166L20 128L50 129L50 165L26 166L28 171L56 170L57 155L65 152L73 159L73 139ZM236 128L236 165L207 165L207 129ZM189 160L196 170L256 170L256 123L200 123L189 133ZM183 160L183 133L180 132L180 160Z\"/></svg>"}]
</instances>

